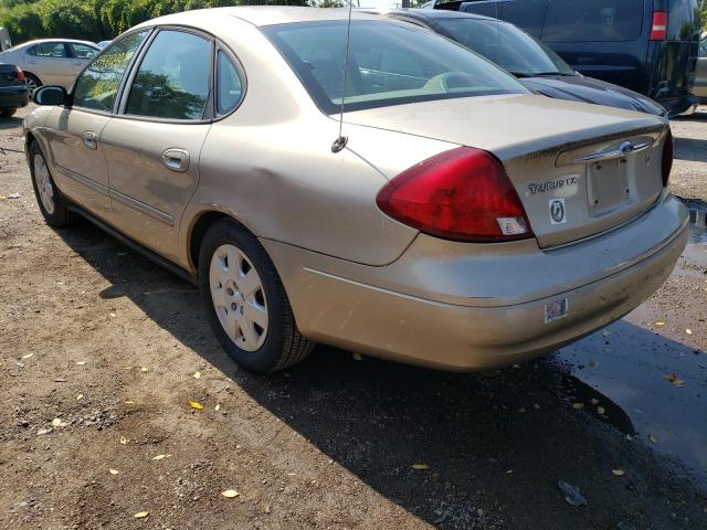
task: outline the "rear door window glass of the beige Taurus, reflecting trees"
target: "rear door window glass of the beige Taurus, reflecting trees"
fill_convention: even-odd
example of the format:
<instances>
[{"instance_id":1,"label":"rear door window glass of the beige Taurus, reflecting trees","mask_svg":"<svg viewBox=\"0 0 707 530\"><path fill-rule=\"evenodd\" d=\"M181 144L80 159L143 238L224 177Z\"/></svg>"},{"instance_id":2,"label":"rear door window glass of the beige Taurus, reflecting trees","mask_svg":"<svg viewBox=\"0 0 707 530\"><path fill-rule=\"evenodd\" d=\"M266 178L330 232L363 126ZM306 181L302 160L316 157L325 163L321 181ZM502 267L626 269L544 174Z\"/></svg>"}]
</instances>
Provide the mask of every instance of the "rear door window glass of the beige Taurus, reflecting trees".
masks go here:
<instances>
[{"instance_id":1,"label":"rear door window glass of the beige Taurus, reflecting trees","mask_svg":"<svg viewBox=\"0 0 707 530\"><path fill-rule=\"evenodd\" d=\"M211 42L183 31L160 31L130 87L125 114L201 119L209 99Z\"/></svg>"}]
</instances>

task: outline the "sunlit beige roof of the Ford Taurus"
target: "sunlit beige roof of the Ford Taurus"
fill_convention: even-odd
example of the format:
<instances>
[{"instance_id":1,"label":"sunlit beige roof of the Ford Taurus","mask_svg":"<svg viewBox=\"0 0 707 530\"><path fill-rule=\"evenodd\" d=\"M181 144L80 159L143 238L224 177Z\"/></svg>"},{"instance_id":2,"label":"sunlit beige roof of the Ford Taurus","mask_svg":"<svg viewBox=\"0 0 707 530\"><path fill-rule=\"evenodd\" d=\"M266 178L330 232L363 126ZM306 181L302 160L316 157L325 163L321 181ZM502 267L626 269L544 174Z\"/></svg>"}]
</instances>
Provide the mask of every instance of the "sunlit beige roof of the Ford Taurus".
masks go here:
<instances>
[{"instance_id":1,"label":"sunlit beige roof of the Ford Taurus","mask_svg":"<svg viewBox=\"0 0 707 530\"><path fill-rule=\"evenodd\" d=\"M347 8L300 8L288 6L243 6L232 8L211 8L183 11L149 20L139 24L140 28L158 24L208 25L210 22L223 20L223 17L234 17L255 26L285 24L293 22L316 22L324 20L347 20ZM380 20L376 14L352 10L351 19Z\"/></svg>"}]
</instances>

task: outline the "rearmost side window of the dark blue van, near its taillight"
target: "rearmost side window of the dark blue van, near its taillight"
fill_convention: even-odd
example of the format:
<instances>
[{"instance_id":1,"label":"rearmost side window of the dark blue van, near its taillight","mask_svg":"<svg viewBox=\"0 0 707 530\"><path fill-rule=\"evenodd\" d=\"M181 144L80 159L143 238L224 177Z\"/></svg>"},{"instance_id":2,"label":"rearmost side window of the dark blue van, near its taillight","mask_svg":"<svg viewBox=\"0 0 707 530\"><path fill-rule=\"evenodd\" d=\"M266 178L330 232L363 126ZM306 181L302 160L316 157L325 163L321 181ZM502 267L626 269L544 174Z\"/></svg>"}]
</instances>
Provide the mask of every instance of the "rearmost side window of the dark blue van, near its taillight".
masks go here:
<instances>
[{"instance_id":1,"label":"rearmost side window of the dark blue van, near its taillight","mask_svg":"<svg viewBox=\"0 0 707 530\"><path fill-rule=\"evenodd\" d=\"M542 40L635 41L643 25L643 3L644 0L551 0Z\"/></svg>"}]
</instances>

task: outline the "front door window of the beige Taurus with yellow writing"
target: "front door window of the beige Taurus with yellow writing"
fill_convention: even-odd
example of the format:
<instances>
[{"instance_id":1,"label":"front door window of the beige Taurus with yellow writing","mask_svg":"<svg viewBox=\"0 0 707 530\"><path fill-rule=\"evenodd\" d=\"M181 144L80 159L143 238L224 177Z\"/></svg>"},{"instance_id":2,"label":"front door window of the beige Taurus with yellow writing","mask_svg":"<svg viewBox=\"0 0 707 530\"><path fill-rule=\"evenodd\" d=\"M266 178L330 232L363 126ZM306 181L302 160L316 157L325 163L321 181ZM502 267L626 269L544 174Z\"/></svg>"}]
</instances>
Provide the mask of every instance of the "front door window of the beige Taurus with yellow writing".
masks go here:
<instances>
[{"instance_id":1,"label":"front door window of the beige Taurus with yellow writing","mask_svg":"<svg viewBox=\"0 0 707 530\"><path fill-rule=\"evenodd\" d=\"M74 88L74 106L113 110L120 82L147 31L114 42L84 71Z\"/></svg>"}]
</instances>

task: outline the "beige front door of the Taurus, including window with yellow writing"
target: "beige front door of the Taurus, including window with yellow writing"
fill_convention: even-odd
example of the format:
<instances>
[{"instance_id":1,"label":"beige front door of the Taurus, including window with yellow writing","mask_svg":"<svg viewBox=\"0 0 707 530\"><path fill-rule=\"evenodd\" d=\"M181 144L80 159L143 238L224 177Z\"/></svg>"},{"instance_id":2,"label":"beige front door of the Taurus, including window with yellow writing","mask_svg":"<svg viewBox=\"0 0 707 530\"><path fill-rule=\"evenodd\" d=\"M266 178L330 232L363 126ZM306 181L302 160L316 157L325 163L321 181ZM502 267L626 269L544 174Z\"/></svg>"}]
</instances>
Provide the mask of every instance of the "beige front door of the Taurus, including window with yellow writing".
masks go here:
<instances>
[{"instance_id":1,"label":"beige front door of the Taurus, including window with yellow writing","mask_svg":"<svg viewBox=\"0 0 707 530\"><path fill-rule=\"evenodd\" d=\"M46 121L55 179L72 200L110 219L108 171L102 134L110 121L120 83L147 31L115 41L78 77L71 107L57 107Z\"/></svg>"}]
</instances>

